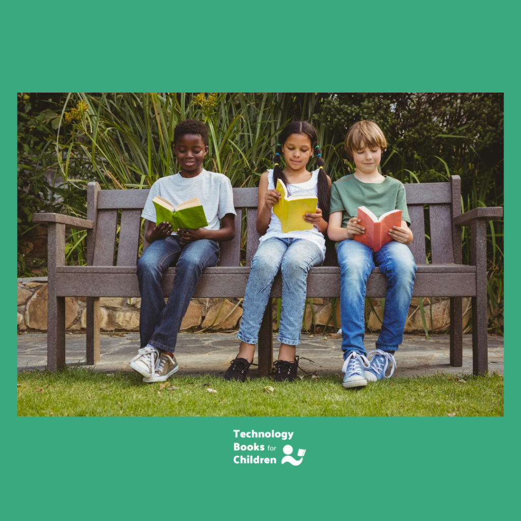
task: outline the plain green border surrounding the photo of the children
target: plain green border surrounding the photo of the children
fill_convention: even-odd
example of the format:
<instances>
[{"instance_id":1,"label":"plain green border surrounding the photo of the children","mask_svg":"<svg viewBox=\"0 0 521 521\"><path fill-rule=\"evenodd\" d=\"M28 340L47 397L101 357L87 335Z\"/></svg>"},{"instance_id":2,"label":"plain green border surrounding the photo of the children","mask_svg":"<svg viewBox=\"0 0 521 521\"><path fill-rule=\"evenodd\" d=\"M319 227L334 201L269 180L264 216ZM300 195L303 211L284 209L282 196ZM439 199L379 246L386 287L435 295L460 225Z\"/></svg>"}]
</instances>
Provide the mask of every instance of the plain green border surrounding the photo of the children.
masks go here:
<instances>
[{"instance_id":1,"label":"plain green border surrounding the photo of the children","mask_svg":"<svg viewBox=\"0 0 521 521\"><path fill-rule=\"evenodd\" d=\"M519 182L519 8L506 2L69 2L3 7L4 252L16 271L16 93L505 92L505 230ZM515 233L505 244L503 418L17 418L4 286L9 518L504 515L516 504ZM235 465L233 429L294 431L300 467ZM280 448L283 443L276 445ZM277 450L278 459L281 457Z\"/></svg>"}]
</instances>

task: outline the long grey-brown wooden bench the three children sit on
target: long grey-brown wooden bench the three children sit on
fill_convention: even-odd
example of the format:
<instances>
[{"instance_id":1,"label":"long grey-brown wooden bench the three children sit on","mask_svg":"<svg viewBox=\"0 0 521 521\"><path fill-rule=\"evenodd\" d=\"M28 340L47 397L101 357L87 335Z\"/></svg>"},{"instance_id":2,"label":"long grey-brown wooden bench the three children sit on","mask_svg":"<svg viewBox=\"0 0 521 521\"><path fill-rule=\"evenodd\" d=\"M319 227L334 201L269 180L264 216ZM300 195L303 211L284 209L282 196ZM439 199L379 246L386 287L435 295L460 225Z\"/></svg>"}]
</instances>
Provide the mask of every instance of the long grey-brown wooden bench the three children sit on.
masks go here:
<instances>
[{"instance_id":1,"label":"long grey-brown wooden bench the three children sit on","mask_svg":"<svg viewBox=\"0 0 521 521\"><path fill-rule=\"evenodd\" d=\"M407 207L414 241L410 249L417 265L414 296L450 296L450 363L463 365L462 297L472 297L473 369L488 370L487 353L487 220L503 216L503 208L476 208L461 215L459 176L450 182L406 184ZM91 182L87 190L87 219L60 214L33 214L34 222L48 225L48 318L47 367L56 371L65 365L65 297L87 297L86 363L100 360L100 297L139 297L136 264L141 212L148 190L100 190ZM219 266L207 268L194 297L244 296L250 264L258 246L255 229L257 189L234 188L233 200L237 233L221 243ZM431 263L426 264L424 206L430 212ZM121 210L119 243L114 265L118 210ZM247 218L246 266L240 266L241 221ZM145 223L146 224L146 223ZM470 226L471 265L462 265L461 226ZM65 266L65 229L88 230L87 266ZM145 243L143 248L146 249ZM169 268L163 278L168 296L176 274ZM367 282L368 297L386 296L387 279L378 268ZM282 294L280 273L271 290ZM307 279L308 297L340 296L340 268L315 267ZM272 305L268 307L259 332L259 375L266 376L273 361Z\"/></svg>"}]
</instances>

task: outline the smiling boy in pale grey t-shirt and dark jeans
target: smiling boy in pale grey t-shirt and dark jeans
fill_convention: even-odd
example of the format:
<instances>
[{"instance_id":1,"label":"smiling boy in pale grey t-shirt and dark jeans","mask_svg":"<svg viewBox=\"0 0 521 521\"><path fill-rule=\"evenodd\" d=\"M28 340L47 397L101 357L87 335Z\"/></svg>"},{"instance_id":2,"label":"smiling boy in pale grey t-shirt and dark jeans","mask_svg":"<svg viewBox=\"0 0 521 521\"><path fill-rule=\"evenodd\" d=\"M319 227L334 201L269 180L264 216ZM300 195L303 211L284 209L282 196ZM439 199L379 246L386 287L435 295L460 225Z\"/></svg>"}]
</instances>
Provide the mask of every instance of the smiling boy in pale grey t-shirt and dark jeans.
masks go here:
<instances>
[{"instance_id":1,"label":"smiling boy in pale grey t-shirt and dark jeans","mask_svg":"<svg viewBox=\"0 0 521 521\"><path fill-rule=\"evenodd\" d=\"M204 123L187 119L176 125L173 151L181 171L152 185L141 214L150 221L145 238L151 244L138 262L141 349L130 361L130 367L143 375L145 382L165 381L178 370L173 351L197 283L205 268L217 264L218 243L235 237L236 214L230 180L202 167L208 153ZM208 226L196 230L180 228L173 233L168 222L156 222L152 203L156 195L174 206L199 197ZM170 266L176 266L176 277L165 304L161 279Z\"/></svg>"}]
</instances>

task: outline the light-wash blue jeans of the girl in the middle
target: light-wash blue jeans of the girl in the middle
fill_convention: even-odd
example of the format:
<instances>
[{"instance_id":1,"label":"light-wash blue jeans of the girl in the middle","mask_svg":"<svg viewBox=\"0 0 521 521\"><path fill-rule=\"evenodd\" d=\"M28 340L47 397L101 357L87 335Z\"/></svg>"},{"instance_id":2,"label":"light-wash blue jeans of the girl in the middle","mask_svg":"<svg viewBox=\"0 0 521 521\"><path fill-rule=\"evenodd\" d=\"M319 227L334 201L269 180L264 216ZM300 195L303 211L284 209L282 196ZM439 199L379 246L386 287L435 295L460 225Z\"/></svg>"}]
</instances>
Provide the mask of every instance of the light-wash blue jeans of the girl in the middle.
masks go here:
<instances>
[{"instance_id":1,"label":"light-wash blue jeans of the girl in the middle","mask_svg":"<svg viewBox=\"0 0 521 521\"><path fill-rule=\"evenodd\" d=\"M288 345L300 344L302 316L306 304L307 272L321 263L322 252L316 244L307 239L272 237L261 242L252 259L237 338L247 344L257 343L271 286L280 269L282 309L279 342Z\"/></svg>"}]
</instances>

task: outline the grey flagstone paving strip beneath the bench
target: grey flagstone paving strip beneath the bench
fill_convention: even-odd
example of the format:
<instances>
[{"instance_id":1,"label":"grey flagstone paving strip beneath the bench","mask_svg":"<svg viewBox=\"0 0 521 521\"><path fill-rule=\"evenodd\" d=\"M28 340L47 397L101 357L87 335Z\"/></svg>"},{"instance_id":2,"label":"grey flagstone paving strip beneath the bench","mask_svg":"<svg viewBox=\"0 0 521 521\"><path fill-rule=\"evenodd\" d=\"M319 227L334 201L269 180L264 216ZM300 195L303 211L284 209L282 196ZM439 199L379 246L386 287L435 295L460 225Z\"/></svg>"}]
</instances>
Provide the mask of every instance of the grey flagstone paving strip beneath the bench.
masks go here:
<instances>
[{"instance_id":1,"label":"grey flagstone paving strip beneath the bench","mask_svg":"<svg viewBox=\"0 0 521 521\"><path fill-rule=\"evenodd\" d=\"M366 334L367 351L375 349L377 334ZM341 373L341 338L336 334L303 334L297 354L311 358L314 363L301 361L301 367L317 374ZM280 343L274 335L274 354ZM503 374L503 337L489 336L489 371ZM101 360L95 371L130 371L129 360L139 349L137 333L106 333L101 335ZM224 373L231 359L239 350L239 340L234 333L179 333L176 358L179 373L214 374ZM438 371L446 373L472 373L472 335L463 336L463 367L449 364L449 335L434 335L430 340L424 336L406 334L403 344L396 353L395 376L432 375ZM66 362L68 365L84 365L85 334L66 335ZM254 359L256 363L256 358ZM18 370L43 369L47 363L47 335L27 333L18 336ZM302 373L304 374L304 373ZM250 377L257 376L256 367L250 369Z\"/></svg>"}]
</instances>

